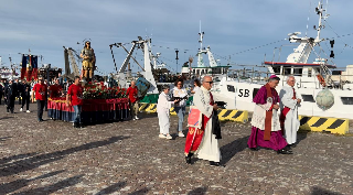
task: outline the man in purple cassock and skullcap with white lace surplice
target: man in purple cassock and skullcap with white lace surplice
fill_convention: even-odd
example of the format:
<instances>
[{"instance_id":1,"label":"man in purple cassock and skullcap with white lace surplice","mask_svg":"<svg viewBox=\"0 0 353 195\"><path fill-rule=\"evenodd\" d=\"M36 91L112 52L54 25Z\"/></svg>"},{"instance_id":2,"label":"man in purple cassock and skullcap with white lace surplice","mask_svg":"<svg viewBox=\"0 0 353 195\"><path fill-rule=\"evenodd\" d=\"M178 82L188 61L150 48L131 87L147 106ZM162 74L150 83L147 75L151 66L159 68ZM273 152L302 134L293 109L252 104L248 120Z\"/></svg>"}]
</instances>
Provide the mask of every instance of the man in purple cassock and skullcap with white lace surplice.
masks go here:
<instances>
[{"instance_id":1,"label":"man in purple cassock and skullcap with white lace surplice","mask_svg":"<svg viewBox=\"0 0 353 195\"><path fill-rule=\"evenodd\" d=\"M252 118L252 134L247 144L252 150L258 150L258 147L261 147L281 154L291 154L280 131L277 115L279 96L275 88L278 83L279 78L276 75L270 76L268 83L257 91L253 99L256 105Z\"/></svg>"}]
</instances>

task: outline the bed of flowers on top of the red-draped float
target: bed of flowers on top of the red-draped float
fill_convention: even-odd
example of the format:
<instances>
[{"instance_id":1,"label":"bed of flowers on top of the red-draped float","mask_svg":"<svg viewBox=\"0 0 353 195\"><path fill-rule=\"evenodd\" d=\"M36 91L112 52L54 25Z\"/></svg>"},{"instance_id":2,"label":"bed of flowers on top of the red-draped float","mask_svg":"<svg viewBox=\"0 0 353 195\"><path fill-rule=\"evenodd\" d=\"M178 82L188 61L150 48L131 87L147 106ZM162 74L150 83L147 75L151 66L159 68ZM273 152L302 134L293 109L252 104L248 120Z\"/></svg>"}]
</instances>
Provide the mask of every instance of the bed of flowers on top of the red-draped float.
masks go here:
<instances>
[{"instance_id":1,"label":"bed of flowers on top of the red-draped float","mask_svg":"<svg viewBox=\"0 0 353 195\"><path fill-rule=\"evenodd\" d=\"M83 99L126 98L126 88L106 87L104 83L88 83L84 86Z\"/></svg>"}]
</instances>

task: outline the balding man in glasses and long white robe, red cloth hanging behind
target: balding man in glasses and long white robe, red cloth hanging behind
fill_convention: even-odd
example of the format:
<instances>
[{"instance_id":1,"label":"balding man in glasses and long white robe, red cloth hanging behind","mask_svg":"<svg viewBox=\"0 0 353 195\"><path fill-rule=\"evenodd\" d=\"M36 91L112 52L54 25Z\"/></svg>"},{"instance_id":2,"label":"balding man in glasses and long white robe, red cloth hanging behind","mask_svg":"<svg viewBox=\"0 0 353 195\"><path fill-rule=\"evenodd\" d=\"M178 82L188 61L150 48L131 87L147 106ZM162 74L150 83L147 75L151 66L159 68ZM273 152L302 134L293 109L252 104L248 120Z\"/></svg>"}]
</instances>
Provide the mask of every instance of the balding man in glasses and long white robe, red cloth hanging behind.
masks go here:
<instances>
[{"instance_id":1,"label":"balding man in glasses and long white robe, red cloth hanging behind","mask_svg":"<svg viewBox=\"0 0 353 195\"><path fill-rule=\"evenodd\" d=\"M202 115L202 126L201 128L189 128L184 150L185 160L189 164L191 163L191 156L195 154L199 159L210 161L211 165L220 165L221 151L218 139L221 139L221 132L217 134L214 131L215 124L213 122L216 120L214 117L217 117L217 106L214 104L213 96L210 93L212 84L212 77L205 76L203 78L203 86L193 97L193 104Z\"/></svg>"}]
</instances>

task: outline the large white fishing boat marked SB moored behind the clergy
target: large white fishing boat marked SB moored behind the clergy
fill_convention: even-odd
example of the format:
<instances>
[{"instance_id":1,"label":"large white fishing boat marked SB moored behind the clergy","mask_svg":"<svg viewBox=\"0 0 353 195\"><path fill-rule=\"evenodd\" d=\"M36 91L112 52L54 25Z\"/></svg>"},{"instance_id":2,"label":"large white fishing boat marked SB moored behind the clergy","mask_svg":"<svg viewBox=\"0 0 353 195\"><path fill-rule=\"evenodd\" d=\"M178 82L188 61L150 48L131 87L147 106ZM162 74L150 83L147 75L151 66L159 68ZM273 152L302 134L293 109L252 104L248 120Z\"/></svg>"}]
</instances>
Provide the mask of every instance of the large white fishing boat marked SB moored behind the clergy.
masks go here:
<instances>
[{"instance_id":1,"label":"large white fishing boat marked SB moored behind the clergy","mask_svg":"<svg viewBox=\"0 0 353 195\"><path fill-rule=\"evenodd\" d=\"M227 109L253 111L253 98L270 75L280 78L277 91L286 84L288 76L295 76L295 87L302 99L299 115L353 119L353 66L347 65L345 71L333 74L335 64L330 64L329 59L317 55L314 47L325 41L320 37L320 33L323 29L322 20L327 19L328 14L322 2L319 2L315 12L319 15L315 37L301 37L300 32L290 33L289 42L299 45L288 55L286 62L271 61L258 66L245 66L243 69L229 69L227 75L214 85L215 100L226 104ZM317 58L308 63L312 53ZM261 71L264 68L265 71Z\"/></svg>"}]
</instances>

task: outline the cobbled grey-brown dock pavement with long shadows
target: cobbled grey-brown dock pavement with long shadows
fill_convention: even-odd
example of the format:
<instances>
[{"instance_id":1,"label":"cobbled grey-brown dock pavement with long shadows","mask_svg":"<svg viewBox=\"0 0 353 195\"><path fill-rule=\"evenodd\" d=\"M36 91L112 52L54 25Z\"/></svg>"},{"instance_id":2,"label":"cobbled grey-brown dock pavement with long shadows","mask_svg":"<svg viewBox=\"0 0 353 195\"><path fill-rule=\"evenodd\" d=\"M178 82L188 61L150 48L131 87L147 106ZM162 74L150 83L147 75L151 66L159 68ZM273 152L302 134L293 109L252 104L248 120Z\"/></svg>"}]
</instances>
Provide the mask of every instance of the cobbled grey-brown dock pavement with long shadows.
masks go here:
<instances>
[{"instance_id":1,"label":"cobbled grey-brown dock pavement with long shadows","mask_svg":"<svg viewBox=\"0 0 353 195\"><path fill-rule=\"evenodd\" d=\"M158 138L156 113L74 129L47 117L36 122L31 108L11 115L0 106L0 194L353 194L352 136L301 132L295 154L282 155L250 151L250 124L227 122L225 167L188 165L185 138Z\"/></svg>"}]
</instances>

